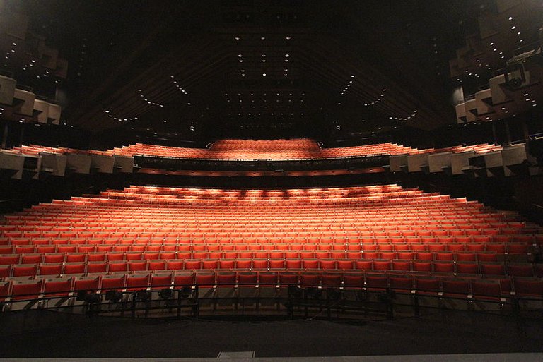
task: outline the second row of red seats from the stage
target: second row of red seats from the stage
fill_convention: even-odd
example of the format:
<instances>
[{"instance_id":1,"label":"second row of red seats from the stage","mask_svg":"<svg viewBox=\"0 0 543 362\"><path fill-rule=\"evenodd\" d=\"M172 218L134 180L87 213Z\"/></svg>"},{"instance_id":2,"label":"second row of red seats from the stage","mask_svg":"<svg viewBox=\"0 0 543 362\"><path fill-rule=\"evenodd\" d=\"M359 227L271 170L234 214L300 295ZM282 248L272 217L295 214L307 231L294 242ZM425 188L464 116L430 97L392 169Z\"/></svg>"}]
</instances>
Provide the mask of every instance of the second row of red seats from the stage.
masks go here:
<instances>
[{"instance_id":1,"label":"second row of red seats from the stage","mask_svg":"<svg viewBox=\"0 0 543 362\"><path fill-rule=\"evenodd\" d=\"M69 263L21 263L0 265L0 277L36 275L92 274L161 270L392 270L449 274L511 275L543 277L543 267L531 263L469 262L448 260L383 259L186 259L186 260L109 260Z\"/></svg>"}]
</instances>

